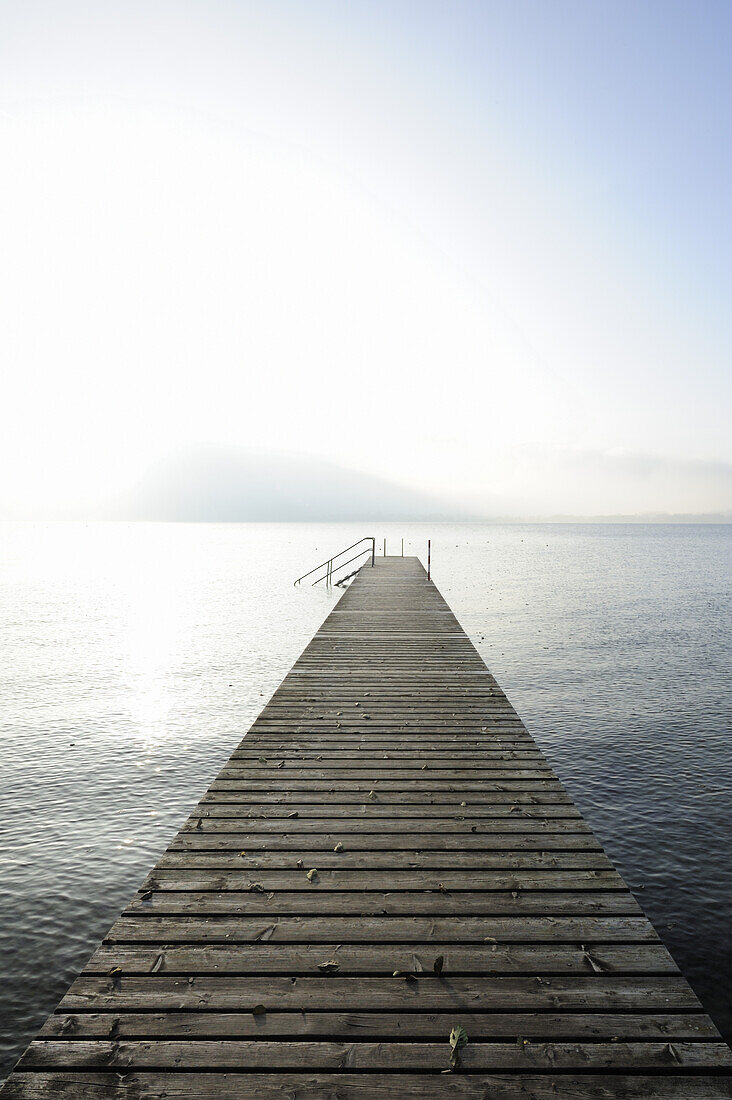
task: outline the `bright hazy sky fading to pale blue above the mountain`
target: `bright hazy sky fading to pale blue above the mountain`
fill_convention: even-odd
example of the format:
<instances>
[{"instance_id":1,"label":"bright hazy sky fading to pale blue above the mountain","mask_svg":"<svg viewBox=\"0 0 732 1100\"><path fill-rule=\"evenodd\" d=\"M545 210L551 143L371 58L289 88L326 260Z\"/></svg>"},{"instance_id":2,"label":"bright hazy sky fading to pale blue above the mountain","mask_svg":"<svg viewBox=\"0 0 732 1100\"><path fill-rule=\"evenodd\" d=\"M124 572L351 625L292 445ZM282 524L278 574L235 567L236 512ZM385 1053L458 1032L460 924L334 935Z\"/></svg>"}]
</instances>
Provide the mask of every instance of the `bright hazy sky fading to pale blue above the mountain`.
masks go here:
<instances>
[{"instance_id":1,"label":"bright hazy sky fading to pale blue above the mountain","mask_svg":"<svg viewBox=\"0 0 732 1100\"><path fill-rule=\"evenodd\" d=\"M0 504L732 507L729 0L0 0Z\"/></svg>"}]
</instances>

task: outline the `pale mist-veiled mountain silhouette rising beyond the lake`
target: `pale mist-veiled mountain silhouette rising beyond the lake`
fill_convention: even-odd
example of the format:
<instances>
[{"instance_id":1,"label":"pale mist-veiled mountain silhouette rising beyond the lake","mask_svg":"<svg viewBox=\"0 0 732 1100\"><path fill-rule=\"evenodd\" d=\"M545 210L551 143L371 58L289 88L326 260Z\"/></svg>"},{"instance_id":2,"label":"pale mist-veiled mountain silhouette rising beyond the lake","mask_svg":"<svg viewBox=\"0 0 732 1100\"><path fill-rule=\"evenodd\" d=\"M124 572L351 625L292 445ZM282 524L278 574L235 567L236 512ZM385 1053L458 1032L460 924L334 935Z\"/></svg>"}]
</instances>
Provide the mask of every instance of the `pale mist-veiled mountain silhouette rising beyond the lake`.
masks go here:
<instances>
[{"instance_id":1,"label":"pale mist-veiled mountain silhouette rising beyond the lake","mask_svg":"<svg viewBox=\"0 0 732 1100\"><path fill-rule=\"evenodd\" d=\"M106 519L451 519L456 509L385 479L307 455L201 447L157 463Z\"/></svg>"}]
</instances>

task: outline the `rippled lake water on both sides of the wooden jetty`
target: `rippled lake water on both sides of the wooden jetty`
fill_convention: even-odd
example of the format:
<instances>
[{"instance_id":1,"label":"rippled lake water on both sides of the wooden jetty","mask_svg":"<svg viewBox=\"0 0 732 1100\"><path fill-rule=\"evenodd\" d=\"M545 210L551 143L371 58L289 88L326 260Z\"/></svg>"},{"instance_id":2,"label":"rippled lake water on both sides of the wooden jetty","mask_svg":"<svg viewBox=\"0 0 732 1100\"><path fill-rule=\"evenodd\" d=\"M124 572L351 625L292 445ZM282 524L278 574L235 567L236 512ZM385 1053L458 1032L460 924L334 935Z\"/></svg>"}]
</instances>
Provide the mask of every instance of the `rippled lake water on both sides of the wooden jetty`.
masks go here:
<instances>
[{"instance_id":1,"label":"rippled lake water on both sides of the wooden jetty","mask_svg":"<svg viewBox=\"0 0 732 1100\"><path fill-rule=\"evenodd\" d=\"M370 525L0 527L0 1077L337 595ZM732 527L394 525L731 1034ZM336 590L336 593L338 590Z\"/></svg>"}]
</instances>

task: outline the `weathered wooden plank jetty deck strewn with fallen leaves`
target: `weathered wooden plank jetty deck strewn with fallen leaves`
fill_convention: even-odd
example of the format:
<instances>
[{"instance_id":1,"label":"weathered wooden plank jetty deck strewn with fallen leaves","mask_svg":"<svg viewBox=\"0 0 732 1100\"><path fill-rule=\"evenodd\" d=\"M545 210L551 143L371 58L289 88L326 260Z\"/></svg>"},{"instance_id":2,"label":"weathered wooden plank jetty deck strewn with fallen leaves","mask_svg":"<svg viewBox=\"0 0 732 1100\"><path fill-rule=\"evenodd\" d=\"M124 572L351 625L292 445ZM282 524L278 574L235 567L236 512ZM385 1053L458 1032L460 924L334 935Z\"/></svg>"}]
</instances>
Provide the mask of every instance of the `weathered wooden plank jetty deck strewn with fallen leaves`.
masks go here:
<instances>
[{"instance_id":1,"label":"weathered wooden plank jetty deck strewn with fallen leaves","mask_svg":"<svg viewBox=\"0 0 732 1100\"><path fill-rule=\"evenodd\" d=\"M730 1065L417 559L383 558L2 1097L711 1100Z\"/></svg>"}]
</instances>

